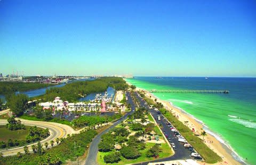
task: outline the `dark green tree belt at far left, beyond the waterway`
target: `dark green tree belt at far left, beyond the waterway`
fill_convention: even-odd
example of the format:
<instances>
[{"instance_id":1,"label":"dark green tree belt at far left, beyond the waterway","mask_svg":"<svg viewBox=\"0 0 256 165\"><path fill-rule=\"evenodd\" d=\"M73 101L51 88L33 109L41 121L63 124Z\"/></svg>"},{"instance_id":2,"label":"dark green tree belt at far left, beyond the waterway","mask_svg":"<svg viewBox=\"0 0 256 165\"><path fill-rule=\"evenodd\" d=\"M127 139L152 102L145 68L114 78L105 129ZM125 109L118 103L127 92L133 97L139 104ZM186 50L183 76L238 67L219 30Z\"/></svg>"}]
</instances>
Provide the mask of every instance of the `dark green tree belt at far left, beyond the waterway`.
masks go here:
<instances>
[{"instance_id":1,"label":"dark green tree belt at far left, beyond the waterway","mask_svg":"<svg viewBox=\"0 0 256 165\"><path fill-rule=\"evenodd\" d=\"M23 83L23 82L0 82L0 94L9 95L15 92L24 92L32 89L39 89L52 86L52 84Z\"/></svg>"}]
</instances>

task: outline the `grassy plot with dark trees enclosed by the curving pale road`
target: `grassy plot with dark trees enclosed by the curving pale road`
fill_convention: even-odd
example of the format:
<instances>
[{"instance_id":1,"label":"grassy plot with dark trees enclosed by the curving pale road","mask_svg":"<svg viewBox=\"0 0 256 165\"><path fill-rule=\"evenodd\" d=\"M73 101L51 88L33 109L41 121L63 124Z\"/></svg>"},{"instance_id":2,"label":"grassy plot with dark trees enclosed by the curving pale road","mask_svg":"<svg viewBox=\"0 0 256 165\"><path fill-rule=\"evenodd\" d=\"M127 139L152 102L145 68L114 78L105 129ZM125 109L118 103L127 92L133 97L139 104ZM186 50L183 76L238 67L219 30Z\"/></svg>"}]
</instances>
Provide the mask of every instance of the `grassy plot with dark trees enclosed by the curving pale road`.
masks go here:
<instances>
[{"instance_id":1,"label":"grassy plot with dark trees enclosed by the curving pale road","mask_svg":"<svg viewBox=\"0 0 256 165\"><path fill-rule=\"evenodd\" d=\"M34 130L35 133L33 136L31 135L31 130ZM25 129L19 130L9 130L5 126L0 126L0 132L0 149L25 145L49 136L49 130L30 126L25 126ZM34 141L27 141L28 136L30 136L30 139L34 139Z\"/></svg>"}]
</instances>

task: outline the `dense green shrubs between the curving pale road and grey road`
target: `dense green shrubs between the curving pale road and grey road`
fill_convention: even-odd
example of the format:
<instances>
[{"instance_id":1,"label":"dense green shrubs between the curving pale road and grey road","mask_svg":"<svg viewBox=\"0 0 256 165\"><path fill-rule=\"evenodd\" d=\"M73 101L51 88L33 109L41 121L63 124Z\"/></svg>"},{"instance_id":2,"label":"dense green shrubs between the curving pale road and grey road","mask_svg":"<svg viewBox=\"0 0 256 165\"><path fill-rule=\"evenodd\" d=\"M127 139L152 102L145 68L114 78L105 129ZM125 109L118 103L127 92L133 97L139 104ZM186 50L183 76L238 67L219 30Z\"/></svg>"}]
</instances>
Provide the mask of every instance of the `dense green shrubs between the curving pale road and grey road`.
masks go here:
<instances>
[{"instance_id":1,"label":"dense green shrubs between the curving pale road and grey road","mask_svg":"<svg viewBox=\"0 0 256 165\"><path fill-rule=\"evenodd\" d=\"M17 156L7 156L0 158L0 164L63 164L67 160L75 160L77 156L81 156L88 149L87 145L92 141L92 138L97 135L95 130L82 131L80 134L74 134L67 138L61 139L58 146L51 149L41 150L42 145L34 146L35 153L21 154ZM81 146L74 151L74 142ZM39 146L39 150L38 150ZM39 151L39 152L38 152Z\"/></svg>"}]
</instances>

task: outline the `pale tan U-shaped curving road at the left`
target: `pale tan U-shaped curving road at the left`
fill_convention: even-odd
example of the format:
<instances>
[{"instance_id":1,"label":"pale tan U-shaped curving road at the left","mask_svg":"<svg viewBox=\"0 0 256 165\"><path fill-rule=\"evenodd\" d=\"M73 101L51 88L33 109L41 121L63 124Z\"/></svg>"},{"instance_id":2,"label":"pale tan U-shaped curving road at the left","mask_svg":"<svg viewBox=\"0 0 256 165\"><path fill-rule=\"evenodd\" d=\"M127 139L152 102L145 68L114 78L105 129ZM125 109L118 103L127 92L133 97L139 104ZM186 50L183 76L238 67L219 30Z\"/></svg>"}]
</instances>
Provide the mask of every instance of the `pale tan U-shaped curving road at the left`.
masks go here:
<instances>
[{"instance_id":1,"label":"pale tan U-shaped curving road at the left","mask_svg":"<svg viewBox=\"0 0 256 165\"><path fill-rule=\"evenodd\" d=\"M56 138L66 137L68 134L71 135L71 134L79 133L79 131L75 131L70 126L62 125L60 123L44 122L44 121L31 121L31 120L24 120L24 119L20 119L20 120L21 120L21 123L26 126L37 126L37 127L41 127L44 129L46 129L46 128L49 129L50 136L43 139L41 141L42 144L44 144L45 142L48 142L50 144L50 142L54 141ZM6 123L7 123L7 120L0 120L0 125L6 125ZM29 144L27 146L31 146L31 145L33 145L33 144ZM54 143L54 145L57 145L57 144ZM29 151L32 151L31 147L29 147ZM24 152L23 146L0 151L0 153L3 153L4 156L15 155L18 152L21 152L21 153Z\"/></svg>"}]
</instances>

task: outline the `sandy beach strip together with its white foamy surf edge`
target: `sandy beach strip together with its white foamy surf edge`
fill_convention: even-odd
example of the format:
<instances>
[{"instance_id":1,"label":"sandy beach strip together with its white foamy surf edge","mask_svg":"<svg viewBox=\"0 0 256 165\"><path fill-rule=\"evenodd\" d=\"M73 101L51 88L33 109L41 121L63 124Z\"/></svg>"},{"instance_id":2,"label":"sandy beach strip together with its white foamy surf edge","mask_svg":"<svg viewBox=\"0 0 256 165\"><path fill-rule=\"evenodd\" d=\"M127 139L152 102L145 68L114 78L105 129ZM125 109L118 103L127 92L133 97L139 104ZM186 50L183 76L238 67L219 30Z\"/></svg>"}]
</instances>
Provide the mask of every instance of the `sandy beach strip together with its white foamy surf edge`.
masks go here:
<instances>
[{"instance_id":1,"label":"sandy beach strip together with its white foamy surf edge","mask_svg":"<svg viewBox=\"0 0 256 165\"><path fill-rule=\"evenodd\" d=\"M131 85L126 81L127 84ZM203 121L200 121L196 119L193 115L190 113L187 113L183 109L173 105L169 101L161 100L160 98L156 97L154 94L149 93L147 90L142 88L136 88L136 90L143 90L145 92L147 97L155 98L157 99L157 102L160 102L164 105L164 108L173 114L175 116L178 116L179 120L184 123L185 121L188 121L188 128L195 129L195 133L201 133L201 131L205 130L207 135L204 137L205 144L214 152L216 152L221 158L221 162L217 162L214 164L246 164L242 158L228 145L221 139L221 137L218 134L215 134L213 131L211 131L207 126L204 125ZM216 137L217 136L217 137ZM199 138L203 139L202 136L199 136ZM235 155L234 155L235 154ZM236 156L239 160L236 160L234 158ZM208 164L205 162L198 162L200 164Z\"/></svg>"}]
</instances>

